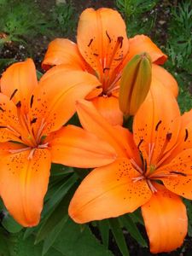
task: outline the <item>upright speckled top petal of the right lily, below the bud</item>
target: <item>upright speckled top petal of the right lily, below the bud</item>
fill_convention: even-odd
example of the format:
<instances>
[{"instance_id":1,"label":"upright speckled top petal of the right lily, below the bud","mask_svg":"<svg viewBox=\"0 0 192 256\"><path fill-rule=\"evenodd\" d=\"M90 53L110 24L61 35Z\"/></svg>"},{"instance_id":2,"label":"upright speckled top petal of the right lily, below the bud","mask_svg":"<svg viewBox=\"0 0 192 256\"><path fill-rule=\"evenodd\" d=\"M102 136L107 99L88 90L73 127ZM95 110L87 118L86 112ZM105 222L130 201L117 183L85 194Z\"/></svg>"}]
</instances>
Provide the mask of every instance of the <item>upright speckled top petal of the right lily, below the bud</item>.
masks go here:
<instances>
[{"instance_id":1,"label":"upright speckled top petal of the right lily, below the bud","mask_svg":"<svg viewBox=\"0 0 192 256\"><path fill-rule=\"evenodd\" d=\"M148 159L150 155L149 161L156 165L162 154L177 142L179 129L180 112L175 97L153 78L148 96L137 111L133 123L135 142L144 158Z\"/></svg>"}]
</instances>

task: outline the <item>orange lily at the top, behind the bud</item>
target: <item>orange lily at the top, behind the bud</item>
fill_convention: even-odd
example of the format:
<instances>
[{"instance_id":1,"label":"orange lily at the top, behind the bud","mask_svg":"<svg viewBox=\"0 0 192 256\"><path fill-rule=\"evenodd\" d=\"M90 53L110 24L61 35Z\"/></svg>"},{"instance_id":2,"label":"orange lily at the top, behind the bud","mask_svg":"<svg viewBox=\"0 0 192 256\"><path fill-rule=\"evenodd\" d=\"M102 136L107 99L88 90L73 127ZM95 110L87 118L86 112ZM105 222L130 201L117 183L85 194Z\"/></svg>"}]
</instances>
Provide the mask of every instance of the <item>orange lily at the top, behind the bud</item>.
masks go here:
<instances>
[{"instance_id":1,"label":"orange lily at the top, behind the bud","mask_svg":"<svg viewBox=\"0 0 192 256\"><path fill-rule=\"evenodd\" d=\"M125 22L113 9L85 9L79 18L77 44L67 38L56 38L49 44L43 67L46 70L64 64L68 69L95 75L101 85L87 96L87 100L93 102L111 124L121 125L123 115L117 99L119 79L127 61L143 52L148 52L154 63L153 76L163 84L167 80L165 83L170 84L177 96L176 80L158 66L166 61L167 56L147 36L128 39Z\"/></svg>"}]
</instances>

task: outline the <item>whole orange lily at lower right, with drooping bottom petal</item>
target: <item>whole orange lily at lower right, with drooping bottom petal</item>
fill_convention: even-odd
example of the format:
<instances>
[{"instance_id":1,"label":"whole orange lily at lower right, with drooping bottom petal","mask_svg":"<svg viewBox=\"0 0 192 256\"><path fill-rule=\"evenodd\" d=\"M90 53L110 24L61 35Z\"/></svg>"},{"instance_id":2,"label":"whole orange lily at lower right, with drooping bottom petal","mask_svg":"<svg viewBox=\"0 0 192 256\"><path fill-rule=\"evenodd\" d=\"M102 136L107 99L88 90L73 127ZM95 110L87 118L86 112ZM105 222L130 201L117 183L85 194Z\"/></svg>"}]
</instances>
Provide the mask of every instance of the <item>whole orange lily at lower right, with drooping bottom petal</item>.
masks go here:
<instances>
[{"instance_id":1,"label":"whole orange lily at lower right, with drooping bottom petal","mask_svg":"<svg viewBox=\"0 0 192 256\"><path fill-rule=\"evenodd\" d=\"M69 206L79 224L141 207L152 253L182 245L188 218L180 195L192 199L192 111L181 117L170 90L157 83L135 115L133 134L109 125L90 102L79 101L84 130L110 144L117 158L90 172ZM89 159L86 163L89 167Z\"/></svg>"}]
</instances>

